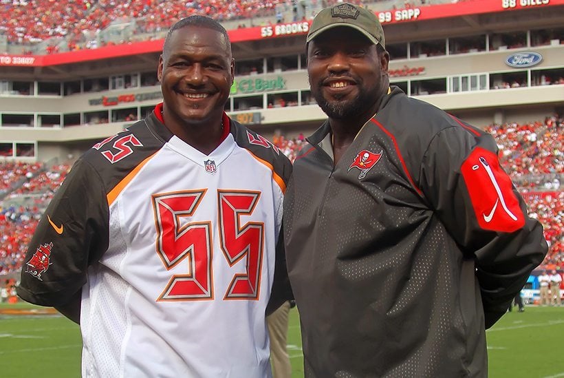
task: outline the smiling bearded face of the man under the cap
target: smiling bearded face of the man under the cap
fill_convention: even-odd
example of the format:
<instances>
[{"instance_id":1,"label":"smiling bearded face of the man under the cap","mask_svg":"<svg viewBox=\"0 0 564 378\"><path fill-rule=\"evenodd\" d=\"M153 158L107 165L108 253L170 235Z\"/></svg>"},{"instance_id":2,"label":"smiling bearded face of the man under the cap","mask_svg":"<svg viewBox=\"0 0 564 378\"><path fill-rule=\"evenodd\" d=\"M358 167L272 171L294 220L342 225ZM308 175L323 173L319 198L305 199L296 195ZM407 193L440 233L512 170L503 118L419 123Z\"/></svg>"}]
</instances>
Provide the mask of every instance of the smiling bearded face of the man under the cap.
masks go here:
<instances>
[{"instance_id":1,"label":"smiling bearded face of the man under the cap","mask_svg":"<svg viewBox=\"0 0 564 378\"><path fill-rule=\"evenodd\" d=\"M364 119L376 113L387 93L389 54L349 27L336 27L307 48L312 94L332 119Z\"/></svg>"}]
</instances>

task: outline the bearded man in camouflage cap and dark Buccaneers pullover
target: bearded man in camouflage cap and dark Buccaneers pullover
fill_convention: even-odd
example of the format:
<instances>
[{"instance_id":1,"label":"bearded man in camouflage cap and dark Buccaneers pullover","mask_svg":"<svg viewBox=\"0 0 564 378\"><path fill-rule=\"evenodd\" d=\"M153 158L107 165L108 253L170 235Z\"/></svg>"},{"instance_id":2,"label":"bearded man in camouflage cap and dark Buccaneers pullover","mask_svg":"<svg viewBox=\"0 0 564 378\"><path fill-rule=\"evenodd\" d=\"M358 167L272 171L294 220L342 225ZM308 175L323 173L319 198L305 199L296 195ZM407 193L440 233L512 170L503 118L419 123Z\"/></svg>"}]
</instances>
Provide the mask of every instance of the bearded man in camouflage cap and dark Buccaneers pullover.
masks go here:
<instances>
[{"instance_id":1,"label":"bearded man in camouflage cap and dark Buccaneers pullover","mask_svg":"<svg viewBox=\"0 0 564 378\"><path fill-rule=\"evenodd\" d=\"M486 328L547 253L497 143L390 86L369 10L321 10L306 51L328 119L284 199L305 377L486 377Z\"/></svg>"}]
</instances>

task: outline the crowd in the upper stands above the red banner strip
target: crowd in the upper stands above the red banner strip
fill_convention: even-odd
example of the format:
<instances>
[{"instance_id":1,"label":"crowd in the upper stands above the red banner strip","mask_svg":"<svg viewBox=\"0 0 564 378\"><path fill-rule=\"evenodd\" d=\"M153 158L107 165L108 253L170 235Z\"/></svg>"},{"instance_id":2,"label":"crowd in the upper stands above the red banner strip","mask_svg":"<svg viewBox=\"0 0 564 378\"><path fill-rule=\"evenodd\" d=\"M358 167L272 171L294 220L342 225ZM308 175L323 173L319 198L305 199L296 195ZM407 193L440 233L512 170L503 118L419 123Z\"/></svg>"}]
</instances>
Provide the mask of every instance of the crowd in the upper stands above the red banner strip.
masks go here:
<instances>
[{"instance_id":1,"label":"crowd in the upper stands above the red banner strip","mask_svg":"<svg viewBox=\"0 0 564 378\"><path fill-rule=\"evenodd\" d=\"M202 14L217 21L241 21L238 27L252 25L253 19L268 19L268 23L312 19L315 11L337 3L339 0L307 0L311 14L299 12L296 0L2 0L0 1L0 34L8 43L32 46L53 39L45 46L45 52L59 52L59 43L65 39L64 51L82 48L99 48L113 42L95 38L112 23L134 21L136 41L151 39L151 34L168 30L179 19ZM382 3L384 0L349 0L350 3ZM409 8L430 5L433 0L406 0L398 2ZM393 3L393 2L391 2ZM304 6L304 2L300 2ZM397 7L393 3L393 8ZM290 14L292 19L285 19ZM300 15L300 17L299 17ZM286 18L290 18L286 17ZM94 36L94 37L92 37ZM129 41L120 41L128 43ZM32 50L25 50L32 54Z\"/></svg>"}]
</instances>

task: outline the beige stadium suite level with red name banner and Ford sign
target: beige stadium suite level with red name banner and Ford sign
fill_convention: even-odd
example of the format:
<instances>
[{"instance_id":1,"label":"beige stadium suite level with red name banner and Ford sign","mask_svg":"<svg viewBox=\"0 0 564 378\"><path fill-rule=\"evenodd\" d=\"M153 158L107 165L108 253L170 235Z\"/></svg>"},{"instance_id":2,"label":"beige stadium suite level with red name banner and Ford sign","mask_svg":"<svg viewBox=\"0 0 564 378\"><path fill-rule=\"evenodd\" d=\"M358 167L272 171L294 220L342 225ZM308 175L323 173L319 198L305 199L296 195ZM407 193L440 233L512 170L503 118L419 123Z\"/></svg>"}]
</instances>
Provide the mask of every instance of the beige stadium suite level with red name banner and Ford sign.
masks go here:
<instances>
[{"instance_id":1,"label":"beige stadium suite level with red name banner and Ford sign","mask_svg":"<svg viewBox=\"0 0 564 378\"><path fill-rule=\"evenodd\" d=\"M564 0L473 0L376 14L392 58L391 81L411 96L475 125L563 113ZM226 110L266 136L276 129L307 133L325 118L305 73L310 22L228 30L237 75ZM100 34L110 31L116 32L115 23ZM155 74L162 36L56 54L0 55L0 152L65 157L151 112L162 98Z\"/></svg>"}]
</instances>

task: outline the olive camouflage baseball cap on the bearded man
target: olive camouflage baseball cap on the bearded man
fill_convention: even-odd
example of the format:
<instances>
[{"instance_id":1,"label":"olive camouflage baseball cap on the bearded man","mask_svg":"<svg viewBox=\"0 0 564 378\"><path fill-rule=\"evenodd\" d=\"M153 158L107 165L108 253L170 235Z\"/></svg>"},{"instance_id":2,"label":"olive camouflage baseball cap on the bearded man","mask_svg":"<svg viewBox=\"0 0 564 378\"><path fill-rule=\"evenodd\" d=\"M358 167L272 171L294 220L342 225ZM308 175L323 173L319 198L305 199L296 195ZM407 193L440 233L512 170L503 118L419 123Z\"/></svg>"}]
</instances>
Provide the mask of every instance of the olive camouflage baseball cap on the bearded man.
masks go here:
<instances>
[{"instance_id":1,"label":"olive camouflage baseball cap on the bearded man","mask_svg":"<svg viewBox=\"0 0 564 378\"><path fill-rule=\"evenodd\" d=\"M306 42L312 41L319 34L336 26L349 26L365 34L375 45L386 48L384 30L376 18L376 14L350 3L338 3L319 12L312 23L310 32L307 33Z\"/></svg>"}]
</instances>

